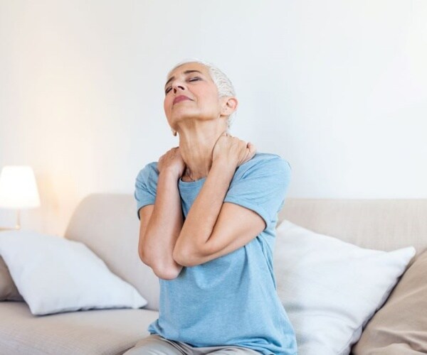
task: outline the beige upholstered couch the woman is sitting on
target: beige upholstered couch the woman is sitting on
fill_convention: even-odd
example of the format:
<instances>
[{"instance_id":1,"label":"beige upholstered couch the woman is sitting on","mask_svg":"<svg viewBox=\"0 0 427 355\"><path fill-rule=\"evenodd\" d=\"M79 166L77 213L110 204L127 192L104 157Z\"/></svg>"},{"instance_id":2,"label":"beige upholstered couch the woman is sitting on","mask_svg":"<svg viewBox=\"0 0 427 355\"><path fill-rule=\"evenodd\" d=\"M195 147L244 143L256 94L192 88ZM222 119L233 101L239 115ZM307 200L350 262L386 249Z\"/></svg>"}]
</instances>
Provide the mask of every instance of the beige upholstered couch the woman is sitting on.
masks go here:
<instances>
[{"instance_id":1,"label":"beige upholstered couch the woman is sitting on","mask_svg":"<svg viewBox=\"0 0 427 355\"><path fill-rule=\"evenodd\" d=\"M362 248L391 251L414 246L416 256L409 267L427 247L426 216L427 200L288 198L278 225L287 219ZM70 219L65 238L88 246L112 273L135 286L147 306L35 316L26 302L0 302L0 354L123 354L147 335L148 324L157 319L159 284L139 260L138 234L133 195L85 197Z\"/></svg>"}]
</instances>

